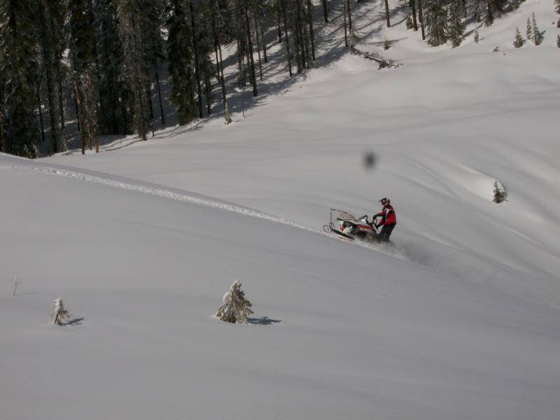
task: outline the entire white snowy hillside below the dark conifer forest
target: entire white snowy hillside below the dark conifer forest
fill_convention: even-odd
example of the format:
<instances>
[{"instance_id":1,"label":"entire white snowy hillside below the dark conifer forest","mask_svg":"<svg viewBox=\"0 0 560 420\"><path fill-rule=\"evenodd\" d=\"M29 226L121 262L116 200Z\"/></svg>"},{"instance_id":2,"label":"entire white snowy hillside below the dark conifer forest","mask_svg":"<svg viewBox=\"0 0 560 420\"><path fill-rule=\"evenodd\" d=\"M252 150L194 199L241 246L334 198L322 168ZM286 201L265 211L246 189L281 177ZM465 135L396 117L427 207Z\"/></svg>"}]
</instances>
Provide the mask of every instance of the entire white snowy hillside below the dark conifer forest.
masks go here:
<instances>
[{"instance_id":1,"label":"entire white snowy hillside below the dark conifer forest","mask_svg":"<svg viewBox=\"0 0 560 420\"><path fill-rule=\"evenodd\" d=\"M454 49L426 48L397 3L384 28L382 6L355 10L358 46L399 40L379 51L396 69L344 52L338 15L295 80L272 46L232 125L0 155L2 419L558 418L552 1ZM514 49L533 12L543 45ZM386 196L394 246L322 232L331 207ZM249 325L212 317L235 279ZM49 325L56 297L71 325Z\"/></svg>"}]
</instances>

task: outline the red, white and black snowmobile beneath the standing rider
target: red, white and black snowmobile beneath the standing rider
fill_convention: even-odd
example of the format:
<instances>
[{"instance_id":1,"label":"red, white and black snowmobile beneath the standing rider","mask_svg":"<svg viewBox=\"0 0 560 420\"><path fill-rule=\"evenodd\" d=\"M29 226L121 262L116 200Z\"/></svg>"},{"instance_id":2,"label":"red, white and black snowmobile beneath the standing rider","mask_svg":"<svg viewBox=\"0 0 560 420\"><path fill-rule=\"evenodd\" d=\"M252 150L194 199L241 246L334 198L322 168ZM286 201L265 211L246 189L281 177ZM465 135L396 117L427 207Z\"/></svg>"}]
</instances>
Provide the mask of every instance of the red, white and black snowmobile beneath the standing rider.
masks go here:
<instances>
[{"instance_id":1,"label":"red, white and black snowmobile beneath the standing rider","mask_svg":"<svg viewBox=\"0 0 560 420\"><path fill-rule=\"evenodd\" d=\"M367 214L356 218L343 210L330 209L330 221L323 225L323 230L327 233L335 233L343 239L353 241L362 239L364 241L381 241L377 230L374 228L375 218L367 220Z\"/></svg>"}]
</instances>

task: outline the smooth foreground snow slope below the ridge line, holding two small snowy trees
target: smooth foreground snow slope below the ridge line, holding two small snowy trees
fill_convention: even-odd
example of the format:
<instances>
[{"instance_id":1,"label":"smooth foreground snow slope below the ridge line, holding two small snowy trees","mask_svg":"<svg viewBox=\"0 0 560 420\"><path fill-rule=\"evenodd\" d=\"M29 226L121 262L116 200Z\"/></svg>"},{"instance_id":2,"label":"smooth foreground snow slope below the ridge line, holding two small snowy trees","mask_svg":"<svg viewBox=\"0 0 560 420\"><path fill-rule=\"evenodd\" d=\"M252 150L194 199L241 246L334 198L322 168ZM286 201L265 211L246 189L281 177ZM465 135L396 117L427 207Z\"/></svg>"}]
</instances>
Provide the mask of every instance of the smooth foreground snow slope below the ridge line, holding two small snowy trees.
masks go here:
<instances>
[{"instance_id":1,"label":"smooth foreground snow slope below the ridge line, holding two small snowy trees","mask_svg":"<svg viewBox=\"0 0 560 420\"><path fill-rule=\"evenodd\" d=\"M220 200L6 156L0 166L5 419L560 409L558 309ZM255 325L211 318L235 278ZM48 325L59 295L75 325Z\"/></svg>"}]
</instances>

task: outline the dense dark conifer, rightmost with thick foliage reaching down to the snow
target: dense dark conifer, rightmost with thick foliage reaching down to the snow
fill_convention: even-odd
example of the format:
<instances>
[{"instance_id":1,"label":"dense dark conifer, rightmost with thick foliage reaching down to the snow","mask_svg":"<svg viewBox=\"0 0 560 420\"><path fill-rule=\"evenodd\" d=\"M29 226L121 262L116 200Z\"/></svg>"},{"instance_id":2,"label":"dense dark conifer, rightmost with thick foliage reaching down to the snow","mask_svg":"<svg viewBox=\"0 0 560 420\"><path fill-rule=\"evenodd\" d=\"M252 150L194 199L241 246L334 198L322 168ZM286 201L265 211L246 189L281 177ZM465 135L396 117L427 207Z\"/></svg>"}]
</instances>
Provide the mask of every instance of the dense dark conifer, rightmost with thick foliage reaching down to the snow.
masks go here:
<instances>
[{"instance_id":1,"label":"dense dark conifer, rightmost with thick foliage reaching down to the snow","mask_svg":"<svg viewBox=\"0 0 560 420\"><path fill-rule=\"evenodd\" d=\"M197 109L193 85L192 33L183 1L171 0L168 14L167 61L169 82L172 85L170 100L176 106L179 124L184 125L195 119Z\"/></svg>"}]
</instances>

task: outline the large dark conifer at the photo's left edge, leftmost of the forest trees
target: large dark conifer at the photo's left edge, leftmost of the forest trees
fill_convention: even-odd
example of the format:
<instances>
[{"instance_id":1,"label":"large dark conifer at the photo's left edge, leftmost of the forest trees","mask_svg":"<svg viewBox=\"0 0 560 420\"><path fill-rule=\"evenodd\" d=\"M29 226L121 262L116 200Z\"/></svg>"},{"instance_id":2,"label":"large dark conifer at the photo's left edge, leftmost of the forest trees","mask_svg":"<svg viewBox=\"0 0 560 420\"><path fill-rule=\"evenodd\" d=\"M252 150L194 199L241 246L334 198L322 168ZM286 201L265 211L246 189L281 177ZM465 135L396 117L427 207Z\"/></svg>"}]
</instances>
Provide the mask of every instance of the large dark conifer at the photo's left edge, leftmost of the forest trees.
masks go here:
<instances>
[{"instance_id":1,"label":"large dark conifer at the photo's left edge, leftmost of the forest trees","mask_svg":"<svg viewBox=\"0 0 560 420\"><path fill-rule=\"evenodd\" d=\"M0 1L0 74L3 78L3 149L5 153L36 158L36 49L33 16L35 0Z\"/></svg>"}]
</instances>

